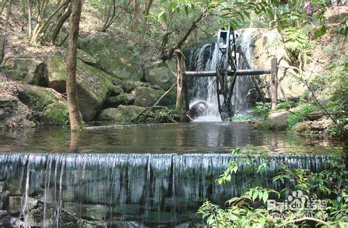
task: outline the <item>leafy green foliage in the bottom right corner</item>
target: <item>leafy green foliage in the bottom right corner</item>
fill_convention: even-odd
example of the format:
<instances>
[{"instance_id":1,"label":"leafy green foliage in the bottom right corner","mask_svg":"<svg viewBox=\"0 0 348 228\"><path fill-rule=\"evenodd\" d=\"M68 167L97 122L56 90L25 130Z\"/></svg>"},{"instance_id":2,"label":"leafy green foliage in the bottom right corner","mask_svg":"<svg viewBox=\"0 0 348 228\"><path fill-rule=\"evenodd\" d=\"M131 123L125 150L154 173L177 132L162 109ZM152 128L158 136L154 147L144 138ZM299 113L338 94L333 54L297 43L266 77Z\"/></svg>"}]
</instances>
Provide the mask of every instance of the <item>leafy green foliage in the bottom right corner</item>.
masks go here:
<instances>
[{"instance_id":1,"label":"leafy green foliage in the bottom right corner","mask_svg":"<svg viewBox=\"0 0 348 228\"><path fill-rule=\"evenodd\" d=\"M240 149L237 150L239 151ZM244 163L245 157L241 159ZM296 218L303 218L299 220L303 227L310 224L308 221L313 222L308 214L312 215L312 218L318 218L314 221L316 225L347 227L348 195L345 188L347 171L344 159L342 152L336 152L329 162L329 168L319 173L303 168L293 168L284 163L276 170L273 181L280 186L286 184L289 188L278 192L274 189L255 186L239 197L228 200L227 206L223 208L209 201L204 202L198 213L202 215L203 221L209 227L287 227L288 224L293 224ZM228 166L227 173L235 174L238 163L233 162ZM225 173L223 175L226 177ZM267 199L286 198L290 190L301 190L306 200L320 200L319 202L323 200L328 203L328 206L326 209L318 210L307 208L299 211L284 210L283 218L277 218L278 211L267 209Z\"/></svg>"}]
</instances>

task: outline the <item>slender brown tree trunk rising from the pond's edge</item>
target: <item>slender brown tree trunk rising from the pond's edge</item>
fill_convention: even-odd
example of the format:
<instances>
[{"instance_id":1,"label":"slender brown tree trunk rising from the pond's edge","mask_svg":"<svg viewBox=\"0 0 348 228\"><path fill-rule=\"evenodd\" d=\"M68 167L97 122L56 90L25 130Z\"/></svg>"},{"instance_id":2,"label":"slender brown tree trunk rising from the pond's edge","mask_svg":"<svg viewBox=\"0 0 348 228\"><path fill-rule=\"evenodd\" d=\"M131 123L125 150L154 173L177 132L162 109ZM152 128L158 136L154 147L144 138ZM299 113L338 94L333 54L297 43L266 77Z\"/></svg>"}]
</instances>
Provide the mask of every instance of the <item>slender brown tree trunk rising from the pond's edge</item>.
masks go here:
<instances>
[{"instance_id":1,"label":"slender brown tree trunk rising from the pond's edge","mask_svg":"<svg viewBox=\"0 0 348 228\"><path fill-rule=\"evenodd\" d=\"M68 96L70 129L72 131L79 131L82 128L82 120L79 111L79 103L77 100L76 86L77 44L79 38L81 8L81 0L72 0L72 13L70 15L69 42L66 60L66 92Z\"/></svg>"}]
</instances>

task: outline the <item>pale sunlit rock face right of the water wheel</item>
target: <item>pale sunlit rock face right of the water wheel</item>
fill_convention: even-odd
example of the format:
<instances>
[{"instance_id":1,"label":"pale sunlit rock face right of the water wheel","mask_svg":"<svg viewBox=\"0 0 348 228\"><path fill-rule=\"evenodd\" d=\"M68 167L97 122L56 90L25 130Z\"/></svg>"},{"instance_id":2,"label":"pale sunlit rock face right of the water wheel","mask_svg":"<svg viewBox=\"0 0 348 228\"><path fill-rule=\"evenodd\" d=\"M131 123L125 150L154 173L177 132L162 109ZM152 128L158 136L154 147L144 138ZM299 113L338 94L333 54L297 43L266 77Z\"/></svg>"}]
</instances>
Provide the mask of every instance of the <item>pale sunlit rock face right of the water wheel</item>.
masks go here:
<instances>
[{"instance_id":1,"label":"pale sunlit rock face right of the water wheel","mask_svg":"<svg viewBox=\"0 0 348 228\"><path fill-rule=\"evenodd\" d=\"M239 35L237 46L239 46L252 69L256 68L271 68L271 59L276 57L279 62L278 68L278 80L280 86L282 86L287 99L294 99L300 97L306 91L306 87L299 84L296 78L290 74L295 73L291 68L284 72L284 67L289 67L289 57L287 51L284 48L284 44L280 42L280 34L276 30L269 29L240 29L237 31ZM266 99L271 98L270 85L271 76L270 74L264 74L256 77L262 92ZM245 80L242 77L237 79L239 81ZM245 84L245 81L244 81ZM248 81L250 90L255 90L252 81ZM246 90L248 91L248 90ZM278 90L278 97L284 99L281 90Z\"/></svg>"}]
</instances>

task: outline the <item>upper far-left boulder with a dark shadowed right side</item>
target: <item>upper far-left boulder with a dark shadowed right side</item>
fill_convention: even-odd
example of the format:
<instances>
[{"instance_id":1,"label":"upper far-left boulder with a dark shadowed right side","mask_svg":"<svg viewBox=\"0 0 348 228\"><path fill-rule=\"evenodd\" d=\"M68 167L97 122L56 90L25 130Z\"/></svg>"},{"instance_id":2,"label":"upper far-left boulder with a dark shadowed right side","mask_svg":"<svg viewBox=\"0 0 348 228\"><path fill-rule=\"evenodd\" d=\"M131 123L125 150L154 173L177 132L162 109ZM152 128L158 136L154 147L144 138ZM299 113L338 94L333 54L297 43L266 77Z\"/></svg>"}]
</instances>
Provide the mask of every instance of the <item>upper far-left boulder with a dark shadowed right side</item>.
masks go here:
<instances>
[{"instance_id":1,"label":"upper far-left boulder with a dark shadowed right side","mask_svg":"<svg viewBox=\"0 0 348 228\"><path fill-rule=\"evenodd\" d=\"M46 86L44 67L45 64L32 57L10 57L5 63L6 73L15 80L26 83Z\"/></svg>"}]
</instances>

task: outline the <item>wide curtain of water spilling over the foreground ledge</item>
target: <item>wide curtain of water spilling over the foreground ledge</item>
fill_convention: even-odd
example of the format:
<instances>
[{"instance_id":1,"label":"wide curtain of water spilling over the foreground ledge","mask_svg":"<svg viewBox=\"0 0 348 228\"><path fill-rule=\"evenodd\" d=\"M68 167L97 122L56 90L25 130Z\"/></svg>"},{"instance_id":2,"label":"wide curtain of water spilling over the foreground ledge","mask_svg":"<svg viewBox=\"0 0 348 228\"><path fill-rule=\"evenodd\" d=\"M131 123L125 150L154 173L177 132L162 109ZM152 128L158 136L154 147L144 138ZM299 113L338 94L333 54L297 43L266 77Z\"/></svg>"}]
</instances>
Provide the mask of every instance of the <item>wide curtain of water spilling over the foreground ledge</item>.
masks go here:
<instances>
[{"instance_id":1,"label":"wide curtain of water spilling over the foreground ledge","mask_svg":"<svg viewBox=\"0 0 348 228\"><path fill-rule=\"evenodd\" d=\"M38 226L61 224L64 211L74 213L77 218L177 225L195 220L194 212L207 199L224 202L242 193L251 179L253 184L260 182L265 187L286 187L274 186L270 180L283 163L319 172L330 159L329 155L275 154L269 161L258 161L268 163L266 173L256 174L242 165L230 184L216 184L214 180L226 170L228 161L237 157L0 153L0 206L11 216L22 216ZM42 213L35 217L29 211L38 205Z\"/></svg>"}]
</instances>

